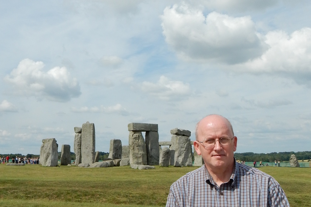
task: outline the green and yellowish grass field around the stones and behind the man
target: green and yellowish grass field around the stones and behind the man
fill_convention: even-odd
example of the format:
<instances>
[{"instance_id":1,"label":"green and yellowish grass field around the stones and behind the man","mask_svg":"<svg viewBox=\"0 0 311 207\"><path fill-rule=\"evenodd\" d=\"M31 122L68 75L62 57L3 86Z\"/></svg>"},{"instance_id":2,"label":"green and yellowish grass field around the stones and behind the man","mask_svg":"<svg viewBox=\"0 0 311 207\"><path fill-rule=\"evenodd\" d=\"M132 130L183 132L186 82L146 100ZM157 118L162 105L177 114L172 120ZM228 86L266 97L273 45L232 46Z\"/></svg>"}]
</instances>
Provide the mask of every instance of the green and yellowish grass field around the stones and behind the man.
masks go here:
<instances>
[{"instance_id":1,"label":"green and yellowish grass field around the stones and behind the man","mask_svg":"<svg viewBox=\"0 0 311 207\"><path fill-rule=\"evenodd\" d=\"M194 169L0 164L0 206L165 206L170 185ZM311 168L260 169L281 184L290 206L311 206Z\"/></svg>"}]
</instances>

